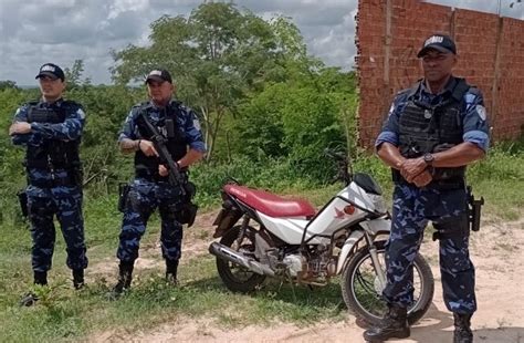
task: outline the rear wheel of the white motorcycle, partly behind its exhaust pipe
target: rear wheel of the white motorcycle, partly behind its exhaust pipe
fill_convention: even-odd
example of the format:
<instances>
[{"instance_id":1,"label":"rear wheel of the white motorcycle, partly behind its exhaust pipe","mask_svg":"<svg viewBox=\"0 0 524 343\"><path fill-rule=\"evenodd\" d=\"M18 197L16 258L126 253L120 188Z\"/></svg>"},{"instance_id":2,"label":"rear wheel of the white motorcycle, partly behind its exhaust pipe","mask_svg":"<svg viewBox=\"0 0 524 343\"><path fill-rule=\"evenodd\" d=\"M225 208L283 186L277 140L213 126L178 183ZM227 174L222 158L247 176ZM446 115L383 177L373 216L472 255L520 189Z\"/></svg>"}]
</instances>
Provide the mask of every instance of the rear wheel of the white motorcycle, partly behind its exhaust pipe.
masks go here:
<instances>
[{"instance_id":1,"label":"rear wheel of the white motorcycle, partly behind its exhaust pipe","mask_svg":"<svg viewBox=\"0 0 524 343\"><path fill-rule=\"evenodd\" d=\"M248 227L248 231L254 232L254 228ZM238 241L240 226L228 230L220 243L254 258L254 237L245 235L242 241ZM249 293L254 291L265 280L265 276L258 274L244 267L226 261L217 257L217 270L226 287L233 292Z\"/></svg>"}]
</instances>

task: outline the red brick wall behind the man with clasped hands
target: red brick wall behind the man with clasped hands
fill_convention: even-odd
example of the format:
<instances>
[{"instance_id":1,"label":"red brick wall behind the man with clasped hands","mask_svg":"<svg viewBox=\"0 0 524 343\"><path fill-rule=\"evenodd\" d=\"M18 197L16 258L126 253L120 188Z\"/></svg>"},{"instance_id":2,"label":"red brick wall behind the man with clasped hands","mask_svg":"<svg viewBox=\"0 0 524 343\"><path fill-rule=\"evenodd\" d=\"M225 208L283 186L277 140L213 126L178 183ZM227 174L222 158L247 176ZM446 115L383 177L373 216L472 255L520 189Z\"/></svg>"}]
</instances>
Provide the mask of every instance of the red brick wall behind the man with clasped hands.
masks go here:
<instances>
[{"instance_id":1,"label":"red brick wall behind the man with clasped hands","mask_svg":"<svg viewBox=\"0 0 524 343\"><path fill-rule=\"evenodd\" d=\"M457 43L457 76L484 94L493 138L524 128L524 21L417 0L359 0L359 143L373 146L395 94L422 77L417 52L434 33Z\"/></svg>"}]
</instances>

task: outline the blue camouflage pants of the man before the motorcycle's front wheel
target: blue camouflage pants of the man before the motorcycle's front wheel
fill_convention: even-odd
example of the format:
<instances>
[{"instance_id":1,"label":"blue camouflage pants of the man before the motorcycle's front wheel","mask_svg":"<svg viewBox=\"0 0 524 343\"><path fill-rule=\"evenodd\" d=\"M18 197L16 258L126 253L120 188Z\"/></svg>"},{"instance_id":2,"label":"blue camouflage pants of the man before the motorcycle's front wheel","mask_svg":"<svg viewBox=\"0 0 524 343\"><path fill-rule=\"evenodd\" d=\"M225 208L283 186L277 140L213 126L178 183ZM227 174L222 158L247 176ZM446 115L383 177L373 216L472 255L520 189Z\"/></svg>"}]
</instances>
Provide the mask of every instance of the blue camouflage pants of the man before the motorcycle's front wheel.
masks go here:
<instances>
[{"instance_id":1,"label":"blue camouflage pants of the man before the motorcycle's front wheel","mask_svg":"<svg viewBox=\"0 0 524 343\"><path fill-rule=\"evenodd\" d=\"M469 256L469 225L465 189L439 190L396 185L391 233L386 250L389 303L409 306L413 301L413 260L428 221L443 232L440 238L440 272L444 303L449 311L476 310L475 272Z\"/></svg>"}]
</instances>

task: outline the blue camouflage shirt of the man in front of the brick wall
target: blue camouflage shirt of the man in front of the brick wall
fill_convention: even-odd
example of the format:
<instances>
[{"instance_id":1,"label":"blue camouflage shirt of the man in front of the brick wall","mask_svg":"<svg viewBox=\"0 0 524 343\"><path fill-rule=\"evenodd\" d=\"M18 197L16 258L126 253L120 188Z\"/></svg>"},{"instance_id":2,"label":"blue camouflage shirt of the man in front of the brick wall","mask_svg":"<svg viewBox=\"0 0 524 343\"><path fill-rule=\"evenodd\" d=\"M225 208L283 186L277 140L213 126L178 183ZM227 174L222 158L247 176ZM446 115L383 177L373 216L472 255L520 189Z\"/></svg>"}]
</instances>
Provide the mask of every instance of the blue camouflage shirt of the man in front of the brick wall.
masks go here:
<instances>
[{"instance_id":1,"label":"blue camouflage shirt of the man in front of the brick wall","mask_svg":"<svg viewBox=\"0 0 524 343\"><path fill-rule=\"evenodd\" d=\"M397 94L389 108L388 118L384 124L382 131L375 142L375 147L378 148L380 144L385 142L398 146L399 116L404 112L411 95L422 103L436 106L450 95L457 82L457 77L452 76L441 93L432 94L422 80L419 82L419 87L415 95L412 94L412 89L404 90ZM462 138L464 142L473 143L486 152L490 146L490 125L482 93L475 87L470 87L464 94L464 104L461 113L463 127Z\"/></svg>"}]
</instances>

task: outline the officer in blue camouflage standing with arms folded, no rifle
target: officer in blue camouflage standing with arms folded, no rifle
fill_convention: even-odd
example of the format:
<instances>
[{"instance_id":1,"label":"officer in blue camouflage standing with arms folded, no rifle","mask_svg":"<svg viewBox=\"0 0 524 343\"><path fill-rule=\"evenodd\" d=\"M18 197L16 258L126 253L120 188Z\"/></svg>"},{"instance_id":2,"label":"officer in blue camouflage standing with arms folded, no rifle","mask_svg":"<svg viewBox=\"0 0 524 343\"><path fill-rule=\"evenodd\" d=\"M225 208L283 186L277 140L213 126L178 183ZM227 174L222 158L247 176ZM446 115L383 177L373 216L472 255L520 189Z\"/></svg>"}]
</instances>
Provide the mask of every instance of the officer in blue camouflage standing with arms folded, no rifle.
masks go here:
<instances>
[{"instance_id":1,"label":"officer in blue camouflage standing with arms folded, no rifle","mask_svg":"<svg viewBox=\"0 0 524 343\"><path fill-rule=\"evenodd\" d=\"M85 113L78 103L62 97L65 81L60 66L43 64L36 79L42 98L18 108L9 128L13 144L24 146L27 152L23 164L28 187L21 199L31 222L34 283L48 284L56 216L67 247L66 263L73 270L73 285L80 289L87 267L78 156ZM29 293L22 304L31 305L35 300Z\"/></svg>"}]
</instances>

